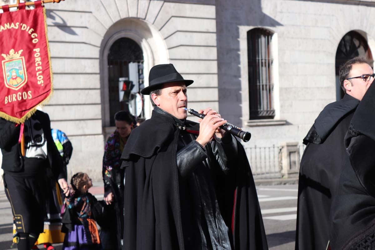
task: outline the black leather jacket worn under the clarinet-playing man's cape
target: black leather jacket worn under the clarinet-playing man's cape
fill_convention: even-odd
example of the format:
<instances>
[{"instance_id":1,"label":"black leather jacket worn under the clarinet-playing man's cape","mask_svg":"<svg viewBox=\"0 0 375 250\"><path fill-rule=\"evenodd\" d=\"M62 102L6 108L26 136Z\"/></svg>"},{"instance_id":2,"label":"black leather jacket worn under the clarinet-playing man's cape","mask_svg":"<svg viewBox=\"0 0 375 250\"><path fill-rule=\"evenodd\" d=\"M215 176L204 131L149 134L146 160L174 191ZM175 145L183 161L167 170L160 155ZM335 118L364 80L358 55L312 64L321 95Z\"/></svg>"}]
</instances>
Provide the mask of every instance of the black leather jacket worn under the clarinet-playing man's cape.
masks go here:
<instances>
[{"instance_id":1,"label":"black leather jacket worn under the clarinet-playing man's cape","mask_svg":"<svg viewBox=\"0 0 375 250\"><path fill-rule=\"evenodd\" d=\"M173 117L162 109L154 111ZM195 141L197 134L189 133L184 121L173 117L181 130L177 141L181 220L185 249L232 249L230 225L220 214L216 195L227 168L228 156L237 156L236 139L229 133L215 138L205 147Z\"/></svg>"}]
</instances>

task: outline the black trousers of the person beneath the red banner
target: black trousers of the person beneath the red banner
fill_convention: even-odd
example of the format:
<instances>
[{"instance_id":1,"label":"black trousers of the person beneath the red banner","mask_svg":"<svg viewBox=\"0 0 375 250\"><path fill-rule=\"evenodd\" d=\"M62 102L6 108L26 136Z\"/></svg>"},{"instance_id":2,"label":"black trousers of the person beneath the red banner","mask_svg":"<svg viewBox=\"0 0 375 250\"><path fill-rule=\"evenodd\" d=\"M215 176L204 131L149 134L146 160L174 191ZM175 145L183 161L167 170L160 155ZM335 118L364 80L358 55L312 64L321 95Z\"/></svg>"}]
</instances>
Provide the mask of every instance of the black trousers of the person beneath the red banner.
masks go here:
<instances>
[{"instance_id":1,"label":"black trousers of the person beneath the red banner","mask_svg":"<svg viewBox=\"0 0 375 250\"><path fill-rule=\"evenodd\" d=\"M5 193L18 233L39 235L43 232L46 217L45 178L43 174L33 177L4 174Z\"/></svg>"}]
</instances>

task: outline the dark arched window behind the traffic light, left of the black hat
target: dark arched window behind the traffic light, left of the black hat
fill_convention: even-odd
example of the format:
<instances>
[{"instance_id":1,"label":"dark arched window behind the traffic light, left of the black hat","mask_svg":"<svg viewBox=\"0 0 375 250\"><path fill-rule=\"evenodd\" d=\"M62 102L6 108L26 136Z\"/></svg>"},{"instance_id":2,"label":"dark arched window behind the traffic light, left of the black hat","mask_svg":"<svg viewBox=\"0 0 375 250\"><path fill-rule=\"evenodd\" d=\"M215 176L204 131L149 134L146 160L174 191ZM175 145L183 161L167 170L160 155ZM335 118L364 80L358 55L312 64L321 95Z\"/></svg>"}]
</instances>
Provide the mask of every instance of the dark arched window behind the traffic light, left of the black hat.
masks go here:
<instances>
[{"instance_id":1,"label":"dark arched window behind the traffic light, left of the black hat","mask_svg":"<svg viewBox=\"0 0 375 250\"><path fill-rule=\"evenodd\" d=\"M114 126L113 117L117 111L126 110L136 115L135 98L143 87L143 51L141 47L129 38L123 37L116 40L108 53L110 126ZM142 111L139 117L143 117L143 113Z\"/></svg>"}]
</instances>

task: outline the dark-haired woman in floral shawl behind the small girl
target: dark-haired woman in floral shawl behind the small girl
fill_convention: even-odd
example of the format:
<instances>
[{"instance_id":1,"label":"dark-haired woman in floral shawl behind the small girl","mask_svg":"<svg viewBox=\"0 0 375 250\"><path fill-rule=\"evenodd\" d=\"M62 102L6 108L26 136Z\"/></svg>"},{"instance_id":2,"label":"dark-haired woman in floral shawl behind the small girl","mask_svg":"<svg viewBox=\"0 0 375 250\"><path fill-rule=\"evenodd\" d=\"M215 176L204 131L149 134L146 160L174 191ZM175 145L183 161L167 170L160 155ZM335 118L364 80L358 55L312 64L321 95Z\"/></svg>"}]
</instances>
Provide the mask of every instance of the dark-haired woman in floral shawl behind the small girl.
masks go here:
<instances>
[{"instance_id":1,"label":"dark-haired woman in floral shawl behind the small girl","mask_svg":"<svg viewBox=\"0 0 375 250\"><path fill-rule=\"evenodd\" d=\"M121 153L134 127L135 118L127 111L115 114L115 132L108 138L104 148L103 181L104 201L108 205L108 226L102 228L101 239L104 249L121 249L123 235L123 195L124 195L124 170L121 166ZM115 225L115 226L114 226Z\"/></svg>"}]
</instances>

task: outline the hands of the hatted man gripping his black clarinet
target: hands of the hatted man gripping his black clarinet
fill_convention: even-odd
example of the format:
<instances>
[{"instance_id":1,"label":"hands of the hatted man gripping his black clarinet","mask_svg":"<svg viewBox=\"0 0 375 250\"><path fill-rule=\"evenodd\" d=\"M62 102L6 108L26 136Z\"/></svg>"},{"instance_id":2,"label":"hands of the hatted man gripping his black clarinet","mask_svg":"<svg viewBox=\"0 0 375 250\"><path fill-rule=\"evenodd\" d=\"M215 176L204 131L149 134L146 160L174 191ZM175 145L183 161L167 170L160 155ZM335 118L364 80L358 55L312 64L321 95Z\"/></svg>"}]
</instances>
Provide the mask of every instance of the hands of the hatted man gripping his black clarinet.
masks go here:
<instances>
[{"instance_id":1,"label":"hands of the hatted man gripping his black clarinet","mask_svg":"<svg viewBox=\"0 0 375 250\"><path fill-rule=\"evenodd\" d=\"M221 115L211 108L201 109L198 111L199 114L206 115L203 119L199 119L199 136L196 141L203 147L212 140L213 135L221 138L225 131L219 127L226 123L226 120L221 118Z\"/></svg>"}]
</instances>

